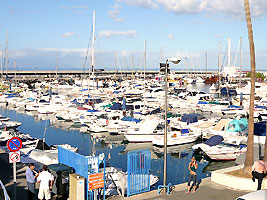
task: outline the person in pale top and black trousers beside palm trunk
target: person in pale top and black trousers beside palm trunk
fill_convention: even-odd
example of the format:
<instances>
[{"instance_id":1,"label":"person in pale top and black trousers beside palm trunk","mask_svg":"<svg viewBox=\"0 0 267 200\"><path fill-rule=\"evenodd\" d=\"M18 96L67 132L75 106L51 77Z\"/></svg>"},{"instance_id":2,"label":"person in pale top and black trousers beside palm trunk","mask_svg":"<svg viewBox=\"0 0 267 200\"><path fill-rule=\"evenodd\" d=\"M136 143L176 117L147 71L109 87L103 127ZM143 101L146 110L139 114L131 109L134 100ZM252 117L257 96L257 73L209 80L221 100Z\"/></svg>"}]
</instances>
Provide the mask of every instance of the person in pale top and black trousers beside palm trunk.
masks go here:
<instances>
[{"instance_id":1,"label":"person in pale top and black trousers beside palm trunk","mask_svg":"<svg viewBox=\"0 0 267 200\"><path fill-rule=\"evenodd\" d=\"M266 176L267 167L263 161L263 156L260 156L259 160L254 162L252 166L252 180L255 182L255 179L258 179L258 188L261 190L261 184L263 178Z\"/></svg>"}]
</instances>

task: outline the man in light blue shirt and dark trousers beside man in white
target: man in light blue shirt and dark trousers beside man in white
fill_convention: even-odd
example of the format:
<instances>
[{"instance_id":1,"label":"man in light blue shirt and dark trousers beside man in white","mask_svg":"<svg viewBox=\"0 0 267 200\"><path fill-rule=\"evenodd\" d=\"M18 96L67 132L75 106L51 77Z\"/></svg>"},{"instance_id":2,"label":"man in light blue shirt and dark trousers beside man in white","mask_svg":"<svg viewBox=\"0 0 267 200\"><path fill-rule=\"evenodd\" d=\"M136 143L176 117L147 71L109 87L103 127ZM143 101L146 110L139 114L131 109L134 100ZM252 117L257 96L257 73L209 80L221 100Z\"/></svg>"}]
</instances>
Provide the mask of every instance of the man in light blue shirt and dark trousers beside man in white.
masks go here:
<instances>
[{"instance_id":1,"label":"man in light blue shirt and dark trousers beside man in white","mask_svg":"<svg viewBox=\"0 0 267 200\"><path fill-rule=\"evenodd\" d=\"M28 169L26 170L26 180L28 186L28 200L35 200L37 198L37 192L35 189L36 178L39 176L39 173L35 173L33 170L35 165L33 163L29 164Z\"/></svg>"}]
</instances>

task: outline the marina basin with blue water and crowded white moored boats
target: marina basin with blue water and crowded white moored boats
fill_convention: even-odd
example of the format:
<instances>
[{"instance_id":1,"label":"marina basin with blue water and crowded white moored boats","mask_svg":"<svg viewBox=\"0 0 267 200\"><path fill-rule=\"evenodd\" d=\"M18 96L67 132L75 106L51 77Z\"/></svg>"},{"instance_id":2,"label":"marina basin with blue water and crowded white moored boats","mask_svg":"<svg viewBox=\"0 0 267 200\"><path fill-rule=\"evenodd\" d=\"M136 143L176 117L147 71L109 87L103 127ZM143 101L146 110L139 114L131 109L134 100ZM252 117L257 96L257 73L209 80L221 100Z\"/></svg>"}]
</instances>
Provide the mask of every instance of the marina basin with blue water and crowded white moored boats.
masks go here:
<instances>
[{"instance_id":1,"label":"marina basin with blue water and crowded white moored boats","mask_svg":"<svg viewBox=\"0 0 267 200\"><path fill-rule=\"evenodd\" d=\"M11 90L4 93L1 101L1 136L4 136L1 148L8 152L5 141L17 136L23 140L21 162L25 165L34 162L36 169L41 169L43 164L57 164L57 146L61 146L83 156L104 155L106 165L112 170L121 170L120 173L129 170L130 152L148 149L150 189L157 190L164 181L164 101L161 97L164 82L157 81L157 76L150 79L150 84L147 81L146 87L142 79L111 80L109 87L103 87L103 82L97 83L99 86L95 89L93 83L91 86L83 79L76 79L72 85L57 80L35 82L32 89L19 82L10 83ZM246 97L240 107L240 100L234 96L230 102L229 96L218 98L217 93L210 94L210 84L181 85L179 79L170 82L173 86L169 88L168 99L173 100L167 113L167 172L171 174L168 182L174 185L187 182L192 156L199 162L199 180L210 177L214 170L234 166L235 162L229 160L236 160L246 152ZM260 109L255 113L256 120L257 114L266 110L261 102L257 104ZM205 142L213 137L221 138L215 139L215 143ZM235 149L233 145L237 145ZM112 179L107 177L107 183ZM116 183L123 188L121 184L122 181ZM106 196L123 196L124 190L126 188L121 192L113 189Z\"/></svg>"}]
</instances>

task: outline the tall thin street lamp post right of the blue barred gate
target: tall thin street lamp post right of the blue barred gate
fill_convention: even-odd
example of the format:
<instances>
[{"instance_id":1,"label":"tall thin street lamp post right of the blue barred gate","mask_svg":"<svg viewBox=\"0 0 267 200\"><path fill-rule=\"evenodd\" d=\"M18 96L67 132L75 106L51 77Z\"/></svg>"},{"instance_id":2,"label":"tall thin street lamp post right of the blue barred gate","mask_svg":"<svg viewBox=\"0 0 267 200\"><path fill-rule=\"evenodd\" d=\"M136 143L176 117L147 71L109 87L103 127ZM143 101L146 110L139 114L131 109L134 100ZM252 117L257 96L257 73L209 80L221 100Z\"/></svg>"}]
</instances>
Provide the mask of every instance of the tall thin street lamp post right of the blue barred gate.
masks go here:
<instances>
[{"instance_id":1,"label":"tall thin street lamp post right of the blue barred gate","mask_svg":"<svg viewBox=\"0 0 267 200\"><path fill-rule=\"evenodd\" d=\"M166 60L165 66L165 124L164 124L164 172L163 172L163 186L164 193L167 192L167 113L168 113L168 61L171 61L174 64L178 64L181 59L180 58L169 58Z\"/></svg>"}]
</instances>

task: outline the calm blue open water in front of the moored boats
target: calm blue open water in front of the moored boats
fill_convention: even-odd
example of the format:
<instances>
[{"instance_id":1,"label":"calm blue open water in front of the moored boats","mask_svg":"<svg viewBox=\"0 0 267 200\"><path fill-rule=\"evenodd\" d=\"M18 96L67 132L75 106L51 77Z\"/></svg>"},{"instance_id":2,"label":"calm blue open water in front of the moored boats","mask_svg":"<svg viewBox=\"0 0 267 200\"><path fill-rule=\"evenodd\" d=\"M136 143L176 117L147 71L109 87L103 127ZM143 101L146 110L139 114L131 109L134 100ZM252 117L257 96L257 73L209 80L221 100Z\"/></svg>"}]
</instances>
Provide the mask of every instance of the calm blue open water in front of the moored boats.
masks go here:
<instances>
[{"instance_id":1,"label":"calm blue open water in front of the moored boats","mask_svg":"<svg viewBox=\"0 0 267 200\"><path fill-rule=\"evenodd\" d=\"M104 153L110 166L118 167L123 171L127 171L127 151L138 149L138 144L108 144L105 141L96 140L88 133L81 133L78 130L56 128L50 124L49 120L39 120L36 117L25 113L18 113L14 110L0 109L0 114L9 117L12 121L22 122L18 130L22 133L28 133L32 137L43 139L48 145L70 144L79 148L79 154L96 155ZM46 131L45 131L46 129ZM193 151L190 148L193 144L179 145L176 147L168 147L170 153L167 154L167 182L179 184L187 182L189 170L188 164L191 160ZM163 182L163 148L153 148L151 143L140 144L141 149L148 148L152 151L151 173L159 176L157 183ZM169 150L168 150L169 151ZM110 156L109 156L110 155ZM208 164L204 161L199 163L197 169L198 179L210 176L209 172L203 172ZM157 186L156 185L156 186Z\"/></svg>"}]
</instances>

